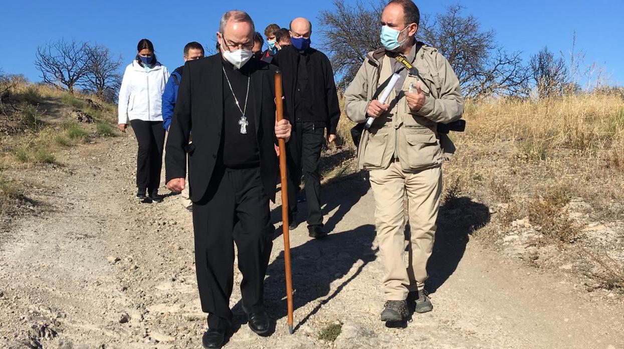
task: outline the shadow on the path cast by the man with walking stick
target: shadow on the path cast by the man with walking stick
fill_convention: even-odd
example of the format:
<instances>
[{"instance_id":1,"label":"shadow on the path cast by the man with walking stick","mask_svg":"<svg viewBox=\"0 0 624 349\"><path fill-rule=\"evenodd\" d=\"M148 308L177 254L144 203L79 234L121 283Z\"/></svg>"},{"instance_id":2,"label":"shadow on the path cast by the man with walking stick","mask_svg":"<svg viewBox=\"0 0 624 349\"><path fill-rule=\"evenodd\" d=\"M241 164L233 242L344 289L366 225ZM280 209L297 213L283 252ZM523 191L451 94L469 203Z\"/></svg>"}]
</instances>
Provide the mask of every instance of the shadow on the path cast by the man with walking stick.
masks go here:
<instances>
[{"instance_id":1,"label":"shadow on the path cast by the man with walking stick","mask_svg":"<svg viewBox=\"0 0 624 349\"><path fill-rule=\"evenodd\" d=\"M295 330L358 277L368 263L376 259L376 250L372 249L374 238L374 226L363 225L354 230L330 234L323 240L310 240L290 249L293 309L296 311L310 302L323 299L308 314L297 314ZM358 264L358 268L351 271L355 264ZM348 274L349 277L332 291L332 282ZM271 319L275 319L272 326L274 330L275 321L287 315L283 251L268 266L266 275L265 307ZM242 314L240 301L232 310L235 314ZM246 323L246 319L242 317L236 317L240 319L240 323L235 328Z\"/></svg>"}]
</instances>

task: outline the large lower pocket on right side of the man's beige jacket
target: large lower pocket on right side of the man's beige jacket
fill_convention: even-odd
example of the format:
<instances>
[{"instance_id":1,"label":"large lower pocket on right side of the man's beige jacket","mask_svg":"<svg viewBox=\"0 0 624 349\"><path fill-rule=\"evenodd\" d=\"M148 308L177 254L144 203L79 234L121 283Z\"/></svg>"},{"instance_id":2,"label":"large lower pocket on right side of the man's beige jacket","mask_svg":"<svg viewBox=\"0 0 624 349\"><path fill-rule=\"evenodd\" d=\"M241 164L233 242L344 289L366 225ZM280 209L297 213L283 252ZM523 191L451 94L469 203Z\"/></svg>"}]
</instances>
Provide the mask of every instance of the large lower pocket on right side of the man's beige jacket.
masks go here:
<instances>
[{"instance_id":1,"label":"large lower pocket on right side of the man's beige jacket","mask_svg":"<svg viewBox=\"0 0 624 349\"><path fill-rule=\"evenodd\" d=\"M407 133L405 142L400 144L399 157L405 170L423 169L442 162L442 151L434 133Z\"/></svg>"}]
</instances>

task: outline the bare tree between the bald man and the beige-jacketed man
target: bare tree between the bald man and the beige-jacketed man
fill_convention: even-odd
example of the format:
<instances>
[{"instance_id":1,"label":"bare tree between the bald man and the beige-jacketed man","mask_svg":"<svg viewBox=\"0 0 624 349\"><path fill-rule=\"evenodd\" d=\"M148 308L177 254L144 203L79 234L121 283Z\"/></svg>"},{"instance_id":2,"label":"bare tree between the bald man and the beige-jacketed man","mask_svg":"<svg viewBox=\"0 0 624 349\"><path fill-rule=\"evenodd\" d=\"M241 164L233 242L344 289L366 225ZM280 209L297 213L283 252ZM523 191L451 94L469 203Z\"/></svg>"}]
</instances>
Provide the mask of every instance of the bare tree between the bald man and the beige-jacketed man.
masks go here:
<instances>
[{"instance_id":1,"label":"bare tree between the bald man and the beige-jacketed man","mask_svg":"<svg viewBox=\"0 0 624 349\"><path fill-rule=\"evenodd\" d=\"M364 55L381 47L379 18L385 4L364 4L361 0L353 5L344 0L334 0L333 4L333 9L318 16L319 33L334 73L342 75L338 85L344 87L355 77Z\"/></svg>"}]
</instances>

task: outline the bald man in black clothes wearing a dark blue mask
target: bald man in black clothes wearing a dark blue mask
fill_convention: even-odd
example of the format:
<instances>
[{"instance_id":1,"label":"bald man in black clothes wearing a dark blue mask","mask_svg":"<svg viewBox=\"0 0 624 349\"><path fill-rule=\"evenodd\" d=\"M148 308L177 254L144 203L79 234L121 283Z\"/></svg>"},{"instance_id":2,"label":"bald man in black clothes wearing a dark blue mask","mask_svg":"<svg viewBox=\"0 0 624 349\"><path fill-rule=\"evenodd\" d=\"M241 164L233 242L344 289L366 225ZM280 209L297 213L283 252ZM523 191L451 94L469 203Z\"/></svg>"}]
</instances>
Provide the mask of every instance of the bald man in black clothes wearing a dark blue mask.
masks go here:
<instances>
[{"instance_id":1,"label":"bald man in black clothes wearing a dark blue mask","mask_svg":"<svg viewBox=\"0 0 624 349\"><path fill-rule=\"evenodd\" d=\"M340 117L338 93L331 63L323 52L310 47L312 24L303 17L290 22L291 45L283 47L273 62L283 75L286 113L293 136L286 152L290 229L298 223L297 195L303 174L308 203L308 235L323 238L321 181L318 164L323 142L336 139Z\"/></svg>"}]
</instances>

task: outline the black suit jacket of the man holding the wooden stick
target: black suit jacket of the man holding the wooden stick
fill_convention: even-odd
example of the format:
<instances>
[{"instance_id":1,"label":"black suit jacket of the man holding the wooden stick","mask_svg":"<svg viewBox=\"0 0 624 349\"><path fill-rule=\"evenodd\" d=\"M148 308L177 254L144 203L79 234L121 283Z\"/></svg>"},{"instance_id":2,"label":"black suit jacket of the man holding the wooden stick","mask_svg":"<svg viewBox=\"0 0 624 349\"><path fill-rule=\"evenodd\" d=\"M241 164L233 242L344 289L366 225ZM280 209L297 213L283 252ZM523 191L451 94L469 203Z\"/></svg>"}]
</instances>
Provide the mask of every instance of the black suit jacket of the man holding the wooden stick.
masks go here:
<instances>
[{"instance_id":1,"label":"black suit jacket of the man holding the wooden stick","mask_svg":"<svg viewBox=\"0 0 624 349\"><path fill-rule=\"evenodd\" d=\"M246 64L251 65L248 103L255 106L260 176L266 195L275 200L275 67L253 59ZM193 202L204 197L217 165L223 125L222 66L220 54L185 63L167 137L166 180L185 177L188 153L188 185ZM191 133L193 142L188 144Z\"/></svg>"}]
</instances>

